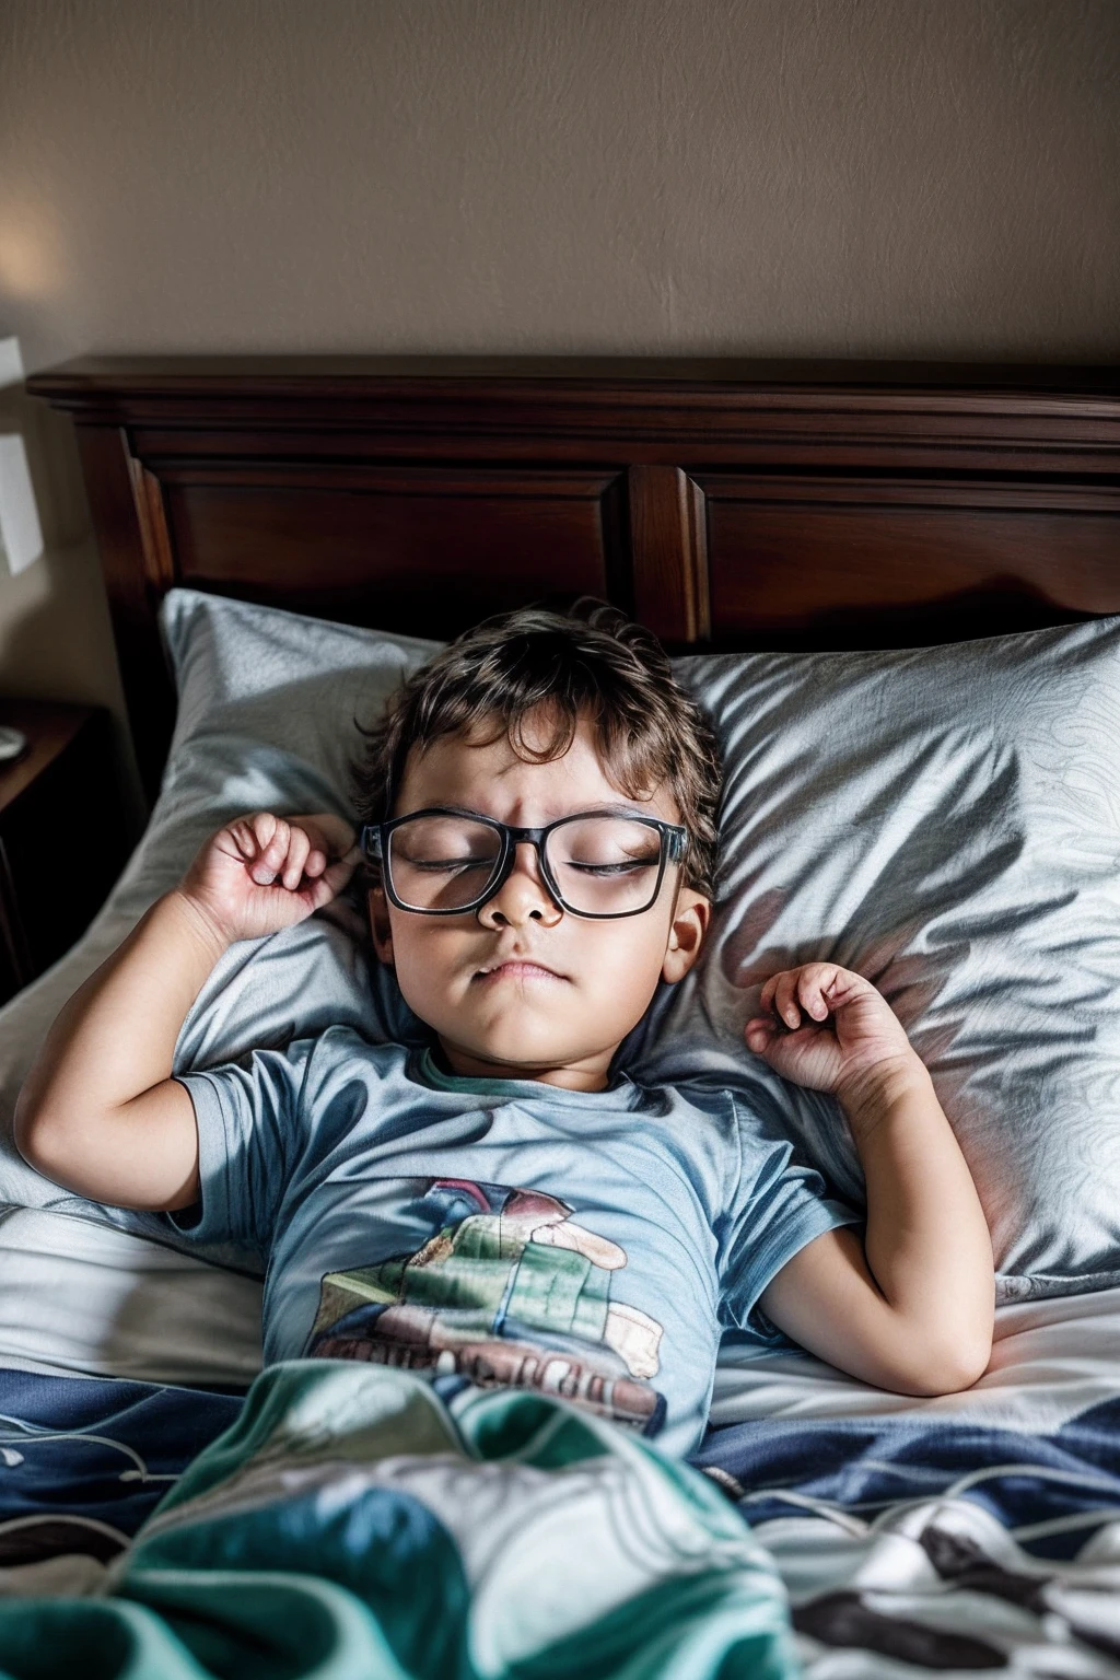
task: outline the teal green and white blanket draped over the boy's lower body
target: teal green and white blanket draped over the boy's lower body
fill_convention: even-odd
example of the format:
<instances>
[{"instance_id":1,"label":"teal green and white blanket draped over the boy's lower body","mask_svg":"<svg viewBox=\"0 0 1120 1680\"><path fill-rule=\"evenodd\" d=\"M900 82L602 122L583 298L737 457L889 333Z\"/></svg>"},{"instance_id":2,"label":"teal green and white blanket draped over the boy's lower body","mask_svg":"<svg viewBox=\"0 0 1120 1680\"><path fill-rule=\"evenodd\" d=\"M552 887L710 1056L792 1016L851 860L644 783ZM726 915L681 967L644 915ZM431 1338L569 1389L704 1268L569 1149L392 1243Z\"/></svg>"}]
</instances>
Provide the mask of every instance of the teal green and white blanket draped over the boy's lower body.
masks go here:
<instances>
[{"instance_id":1,"label":"teal green and white blanket draped over the boy's lower body","mask_svg":"<svg viewBox=\"0 0 1120 1680\"><path fill-rule=\"evenodd\" d=\"M272 1366L87 1598L0 1606L47 1680L784 1680L786 1594L704 1475L559 1401Z\"/></svg>"}]
</instances>

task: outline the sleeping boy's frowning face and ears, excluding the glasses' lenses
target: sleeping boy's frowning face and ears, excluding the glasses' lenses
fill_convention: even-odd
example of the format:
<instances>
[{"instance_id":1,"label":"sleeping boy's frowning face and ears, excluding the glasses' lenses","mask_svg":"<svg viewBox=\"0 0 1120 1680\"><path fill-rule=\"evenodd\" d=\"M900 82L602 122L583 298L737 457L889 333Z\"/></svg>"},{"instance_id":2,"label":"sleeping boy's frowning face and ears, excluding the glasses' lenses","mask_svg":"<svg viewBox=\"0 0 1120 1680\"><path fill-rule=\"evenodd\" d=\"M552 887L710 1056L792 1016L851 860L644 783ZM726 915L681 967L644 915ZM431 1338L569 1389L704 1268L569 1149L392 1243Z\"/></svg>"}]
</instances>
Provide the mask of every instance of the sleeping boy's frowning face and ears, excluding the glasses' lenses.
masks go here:
<instances>
[{"instance_id":1,"label":"sleeping boy's frowning face and ears, excluding the glasses' lenses","mask_svg":"<svg viewBox=\"0 0 1120 1680\"><path fill-rule=\"evenodd\" d=\"M433 805L519 828L620 805L680 822L665 788L641 803L620 793L586 719L569 751L547 764L524 763L505 736L489 746L443 736L410 756L393 815ZM658 979L682 979L700 951L710 904L680 882L680 865L670 864L648 911L589 921L556 904L534 848L519 845L512 874L482 909L421 916L400 911L374 887L369 921L378 956L393 964L410 1008L435 1028L452 1072L598 1090Z\"/></svg>"}]
</instances>

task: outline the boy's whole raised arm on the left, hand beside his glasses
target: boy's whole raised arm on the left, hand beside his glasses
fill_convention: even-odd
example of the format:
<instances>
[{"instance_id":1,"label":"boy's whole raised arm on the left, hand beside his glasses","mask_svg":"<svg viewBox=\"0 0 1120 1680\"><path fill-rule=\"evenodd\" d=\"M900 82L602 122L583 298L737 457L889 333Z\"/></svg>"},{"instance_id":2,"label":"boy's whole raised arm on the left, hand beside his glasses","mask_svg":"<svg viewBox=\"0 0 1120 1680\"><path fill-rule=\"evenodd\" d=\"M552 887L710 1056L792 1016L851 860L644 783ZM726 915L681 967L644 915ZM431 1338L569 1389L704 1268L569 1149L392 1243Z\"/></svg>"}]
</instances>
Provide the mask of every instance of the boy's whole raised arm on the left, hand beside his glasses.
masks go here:
<instances>
[{"instance_id":1,"label":"boy's whole raised arm on the left, hand beside his glasses","mask_svg":"<svg viewBox=\"0 0 1120 1680\"><path fill-rule=\"evenodd\" d=\"M356 860L349 823L329 813L257 811L212 835L47 1033L15 1107L30 1164L116 1206L196 1201L195 1109L171 1079L186 1011L227 946L329 904Z\"/></svg>"}]
</instances>

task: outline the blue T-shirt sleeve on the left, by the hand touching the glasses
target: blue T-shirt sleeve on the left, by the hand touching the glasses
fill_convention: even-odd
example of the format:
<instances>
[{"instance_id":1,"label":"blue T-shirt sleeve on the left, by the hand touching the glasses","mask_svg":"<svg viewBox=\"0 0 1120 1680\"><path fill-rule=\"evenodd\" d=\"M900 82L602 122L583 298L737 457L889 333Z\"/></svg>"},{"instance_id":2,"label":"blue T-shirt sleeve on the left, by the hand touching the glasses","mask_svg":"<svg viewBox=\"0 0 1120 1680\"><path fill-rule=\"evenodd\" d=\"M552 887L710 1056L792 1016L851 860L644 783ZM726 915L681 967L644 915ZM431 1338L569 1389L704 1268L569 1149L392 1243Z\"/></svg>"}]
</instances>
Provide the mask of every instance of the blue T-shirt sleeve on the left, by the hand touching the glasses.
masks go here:
<instances>
[{"instance_id":1,"label":"blue T-shirt sleeve on the left, by the hand touching the glasses","mask_svg":"<svg viewBox=\"0 0 1120 1680\"><path fill-rule=\"evenodd\" d=\"M267 1255L302 1132L314 1038L240 1062L176 1074L195 1105L200 1200L168 1215L200 1243L243 1242Z\"/></svg>"}]
</instances>

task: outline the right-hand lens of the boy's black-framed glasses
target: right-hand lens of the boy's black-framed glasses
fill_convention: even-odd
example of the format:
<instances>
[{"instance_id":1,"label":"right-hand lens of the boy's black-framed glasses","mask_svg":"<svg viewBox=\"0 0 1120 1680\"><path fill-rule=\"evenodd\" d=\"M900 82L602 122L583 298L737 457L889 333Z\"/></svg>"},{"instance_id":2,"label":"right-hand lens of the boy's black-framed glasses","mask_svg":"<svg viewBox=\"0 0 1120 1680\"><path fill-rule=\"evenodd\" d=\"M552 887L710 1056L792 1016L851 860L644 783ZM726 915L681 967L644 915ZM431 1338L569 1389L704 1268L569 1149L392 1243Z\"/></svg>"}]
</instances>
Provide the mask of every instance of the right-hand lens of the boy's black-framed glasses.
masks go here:
<instances>
[{"instance_id":1,"label":"right-hand lens of the boy's black-framed glasses","mask_svg":"<svg viewBox=\"0 0 1120 1680\"><path fill-rule=\"evenodd\" d=\"M653 904L662 835L628 816L574 816L547 838L561 897L586 916L626 916Z\"/></svg>"}]
</instances>

